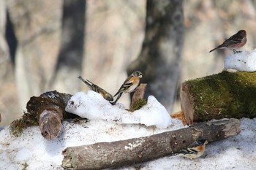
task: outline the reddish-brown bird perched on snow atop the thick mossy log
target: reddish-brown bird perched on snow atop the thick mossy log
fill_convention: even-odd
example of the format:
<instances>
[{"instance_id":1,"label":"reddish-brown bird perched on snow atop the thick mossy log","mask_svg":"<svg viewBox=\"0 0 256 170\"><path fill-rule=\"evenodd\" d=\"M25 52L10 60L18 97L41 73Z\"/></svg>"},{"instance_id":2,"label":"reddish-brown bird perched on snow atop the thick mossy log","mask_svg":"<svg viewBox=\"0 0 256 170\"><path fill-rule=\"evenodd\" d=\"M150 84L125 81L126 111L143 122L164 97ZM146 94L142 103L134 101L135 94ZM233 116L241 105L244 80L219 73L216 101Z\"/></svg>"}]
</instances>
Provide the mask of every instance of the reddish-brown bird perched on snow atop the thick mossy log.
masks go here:
<instances>
[{"instance_id":1,"label":"reddish-brown bird perched on snow atop the thick mossy log","mask_svg":"<svg viewBox=\"0 0 256 170\"><path fill-rule=\"evenodd\" d=\"M246 44L246 41L246 31L240 30L238 31L238 33L236 33L233 36L230 36L229 39L225 40L225 42L223 42L222 45L219 45L218 47L209 51L209 53L211 53L214 50L222 48L228 48L230 50L233 50L233 53L240 53L241 51L237 51L236 49L243 47Z\"/></svg>"}]
</instances>

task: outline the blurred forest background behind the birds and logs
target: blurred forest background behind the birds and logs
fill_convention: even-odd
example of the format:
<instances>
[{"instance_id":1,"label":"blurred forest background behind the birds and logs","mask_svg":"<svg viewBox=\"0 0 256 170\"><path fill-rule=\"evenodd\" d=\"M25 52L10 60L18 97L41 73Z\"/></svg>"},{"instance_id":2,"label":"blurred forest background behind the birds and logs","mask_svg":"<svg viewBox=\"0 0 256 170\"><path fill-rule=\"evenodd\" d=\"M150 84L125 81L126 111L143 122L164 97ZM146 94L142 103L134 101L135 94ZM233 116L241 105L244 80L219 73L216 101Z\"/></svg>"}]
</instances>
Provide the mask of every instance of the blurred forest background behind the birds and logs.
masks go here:
<instances>
[{"instance_id":1,"label":"blurred forest background behind the birds and logs","mask_svg":"<svg viewBox=\"0 0 256 170\"><path fill-rule=\"evenodd\" d=\"M256 0L0 1L0 126L31 96L88 90L114 94L135 69L148 94L180 110L179 85L222 72L227 50L208 53L240 29L255 48ZM118 101L129 105L129 95Z\"/></svg>"}]
</instances>

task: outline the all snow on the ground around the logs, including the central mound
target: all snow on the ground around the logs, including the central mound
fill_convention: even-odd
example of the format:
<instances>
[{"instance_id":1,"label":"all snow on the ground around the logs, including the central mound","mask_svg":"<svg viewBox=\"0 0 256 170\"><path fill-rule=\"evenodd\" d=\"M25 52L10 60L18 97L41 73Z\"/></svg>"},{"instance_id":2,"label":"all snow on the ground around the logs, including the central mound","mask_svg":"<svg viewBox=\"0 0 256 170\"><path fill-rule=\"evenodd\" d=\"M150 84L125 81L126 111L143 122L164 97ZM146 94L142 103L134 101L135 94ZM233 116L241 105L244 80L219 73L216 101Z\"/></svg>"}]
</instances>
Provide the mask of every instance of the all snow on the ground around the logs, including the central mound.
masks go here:
<instances>
[{"instance_id":1,"label":"all snow on the ground around the logs, including the central mound","mask_svg":"<svg viewBox=\"0 0 256 170\"><path fill-rule=\"evenodd\" d=\"M22 169L25 164L26 169L62 169L61 161L63 155L62 150L66 147L79 146L83 144L93 144L95 142L112 142L116 140L131 139L140 136L148 136L159 134L164 131L173 131L178 128L184 128L181 120L170 119L167 122L167 128L161 127L159 123L165 121L157 118L157 109L159 112L165 112L162 105L153 97L148 98L148 105L140 110L140 112L129 113L136 115L136 119L128 116L127 111L124 112L124 107L121 104L116 106L108 105L101 96L95 93L77 93L78 96L72 98L72 101L81 101L80 106L84 106L83 100L90 98L86 108L78 107L80 114L83 109L91 116L91 120L73 122L73 120L65 120L61 135L54 141L45 140L38 126L26 128L23 134L19 137L14 137L10 134L9 127L0 131L0 169ZM77 97L77 98L76 98ZM79 99L80 98L80 99ZM83 99L83 100L82 100ZM75 103L73 105L76 105ZM93 107L93 108L91 108ZM111 108L113 107L113 108ZM151 108L152 107L152 108ZM108 108L110 112L108 113ZM67 108L69 109L69 108ZM89 110L89 111L88 111ZM136 120L132 123L121 123L121 121L113 121L113 117L108 114L113 114L116 117L124 114L128 120ZM104 113L106 119L100 117ZM97 115L94 117L94 114ZM148 116L146 116L146 114ZM154 115L154 118L151 117ZM83 115L83 114L82 114ZM108 117L110 116L110 117ZM159 115L165 117L165 115ZM118 117L120 118L120 117ZM155 120L154 120L155 119ZM148 120L148 123L143 122ZM153 121L154 120L154 121ZM143 123L143 124L140 124ZM145 125L144 125L145 124ZM147 126L157 124L159 128ZM164 126L164 125L163 125ZM139 145L138 143L137 145ZM127 149L136 147L134 145L127 146ZM206 145L205 154L195 160L184 158L180 155L159 158L155 161L149 161L140 165L123 167L125 170L134 170L135 166L140 166L142 170L148 169L256 169L256 118L241 119L241 133L229 139L219 142L212 142Z\"/></svg>"}]
</instances>

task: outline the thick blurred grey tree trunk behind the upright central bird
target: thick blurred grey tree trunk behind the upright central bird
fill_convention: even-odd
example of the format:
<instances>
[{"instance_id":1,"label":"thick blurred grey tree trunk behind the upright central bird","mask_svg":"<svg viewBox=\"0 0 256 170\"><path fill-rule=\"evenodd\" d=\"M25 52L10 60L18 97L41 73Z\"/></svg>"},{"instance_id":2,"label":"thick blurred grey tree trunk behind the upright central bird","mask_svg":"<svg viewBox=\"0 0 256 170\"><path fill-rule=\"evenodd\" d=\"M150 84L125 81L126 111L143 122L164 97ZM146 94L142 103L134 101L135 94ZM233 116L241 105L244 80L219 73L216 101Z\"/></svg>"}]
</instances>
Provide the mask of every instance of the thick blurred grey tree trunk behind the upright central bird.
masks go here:
<instances>
[{"instance_id":1,"label":"thick blurred grey tree trunk behind the upright central bird","mask_svg":"<svg viewBox=\"0 0 256 170\"><path fill-rule=\"evenodd\" d=\"M183 1L148 0L146 33L138 59L129 65L128 74L143 72L148 83L146 97L153 95L172 111L180 73L184 42Z\"/></svg>"}]
</instances>

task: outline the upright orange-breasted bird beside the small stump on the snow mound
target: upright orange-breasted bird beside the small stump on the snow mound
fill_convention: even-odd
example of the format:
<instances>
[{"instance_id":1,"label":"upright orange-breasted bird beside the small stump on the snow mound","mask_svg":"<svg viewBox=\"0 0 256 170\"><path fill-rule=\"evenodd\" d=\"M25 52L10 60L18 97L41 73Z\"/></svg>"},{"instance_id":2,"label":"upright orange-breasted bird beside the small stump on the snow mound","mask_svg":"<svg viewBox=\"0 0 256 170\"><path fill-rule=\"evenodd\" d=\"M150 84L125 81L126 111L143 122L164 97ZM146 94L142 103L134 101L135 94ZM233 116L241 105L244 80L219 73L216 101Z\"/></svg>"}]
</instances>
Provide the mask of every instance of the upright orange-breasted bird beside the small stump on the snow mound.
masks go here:
<instances>
[{"instance_id":1,"label":"upright orange-breasted bird beside the small stump on the snow mound","mask_svg":"<svg viewBox=\"0 0 256 170\"><path fill-rule=\"evenodd\" d=\"M115 96L118 95L116 101L118 101L123 93L132 93L133 91L135 91L140 84L140 78L142 78L142 73L139 71L135 71L131 75L129 75L129 77L127 77L127 80L124 81L123 85L121 85L121 88L119 88L118 92L115 94ZM115 105L116 101L110 103Z\"/></svg>"}]
</instances>

